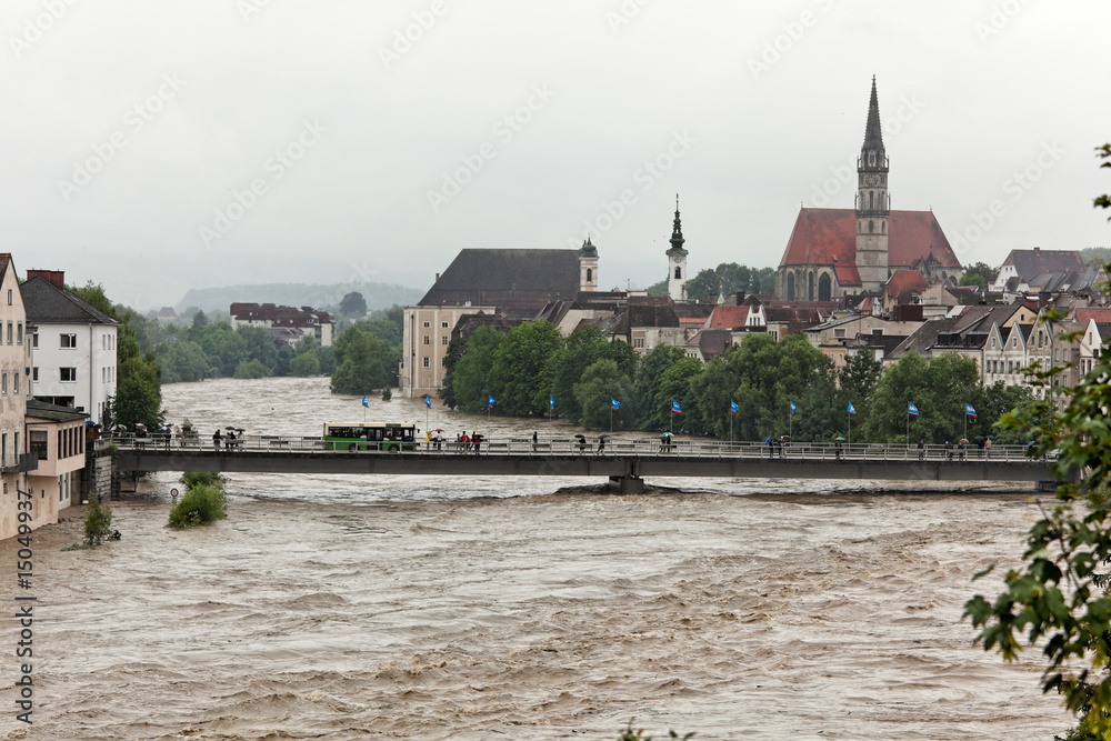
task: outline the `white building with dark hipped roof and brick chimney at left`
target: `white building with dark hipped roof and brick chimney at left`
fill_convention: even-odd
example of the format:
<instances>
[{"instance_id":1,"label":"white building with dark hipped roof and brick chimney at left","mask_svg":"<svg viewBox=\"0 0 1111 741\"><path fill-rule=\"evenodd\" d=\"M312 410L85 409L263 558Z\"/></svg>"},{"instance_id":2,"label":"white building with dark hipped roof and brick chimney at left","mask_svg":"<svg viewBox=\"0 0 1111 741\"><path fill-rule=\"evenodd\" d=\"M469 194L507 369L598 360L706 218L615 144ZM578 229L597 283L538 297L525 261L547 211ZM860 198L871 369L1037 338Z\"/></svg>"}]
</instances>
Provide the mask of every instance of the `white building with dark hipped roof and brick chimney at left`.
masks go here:
<instances>
[{"instance_id":1,"label":"white building with dark hipped roof and brick chimney at left","mask_svg":"<svg viewBox=\"0 0 1111 741\"><path fill-rule=\"evenodd\" d=\"M28 270L19 288L34 348L34 398L103 422L116 395L118 324L67 291L63 279L58 270Z\"/></svg>"}]
</instances>

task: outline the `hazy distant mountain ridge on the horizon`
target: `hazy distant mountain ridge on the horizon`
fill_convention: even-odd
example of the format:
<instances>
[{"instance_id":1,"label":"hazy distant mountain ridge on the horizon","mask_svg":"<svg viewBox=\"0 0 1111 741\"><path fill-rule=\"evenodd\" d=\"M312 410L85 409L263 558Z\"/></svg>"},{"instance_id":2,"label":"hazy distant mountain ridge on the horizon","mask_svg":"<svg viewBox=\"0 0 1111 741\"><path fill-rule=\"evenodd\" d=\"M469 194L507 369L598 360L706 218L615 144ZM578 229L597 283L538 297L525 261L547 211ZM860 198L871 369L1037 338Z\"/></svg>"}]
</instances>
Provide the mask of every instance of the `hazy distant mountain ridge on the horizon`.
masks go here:
<instances>
[{"instance_id":1,"label":"hazy distant mountain ridge on the horizon","mask_svg":"<svg viewBox=\"0 0 1111 741\"><path fill-rule=\"evenodd\" d=\"M202 311L228 311L232 303L277 303L290 307L327 309L338 307L344 296L358 291L367 300L367 309L389 309L393 304L417 303L424 291L396 283L270 283L264 286L224 286L194 288L173 304L179 313L189 307Z\"/></svg>"}]
</instances>

